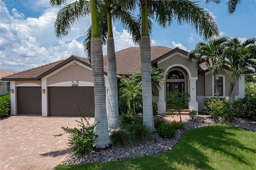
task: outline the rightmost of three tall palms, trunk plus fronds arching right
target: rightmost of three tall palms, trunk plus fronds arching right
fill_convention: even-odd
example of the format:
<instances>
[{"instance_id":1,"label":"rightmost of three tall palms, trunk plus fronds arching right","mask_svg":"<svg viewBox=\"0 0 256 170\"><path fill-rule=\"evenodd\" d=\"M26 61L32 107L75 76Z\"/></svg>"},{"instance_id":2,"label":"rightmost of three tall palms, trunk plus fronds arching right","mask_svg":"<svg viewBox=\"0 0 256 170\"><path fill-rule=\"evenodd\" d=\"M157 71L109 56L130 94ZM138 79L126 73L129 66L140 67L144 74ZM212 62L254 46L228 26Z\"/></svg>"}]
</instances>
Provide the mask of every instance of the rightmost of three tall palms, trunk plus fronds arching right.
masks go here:
<instances>
[{"instance_id":1,"label":"rightmost of three tall palms, trunk plus fronds arching right","mask_svg":"<svg viewBox=\"0 0 256 170\"><path fill-rule=\"evenodd\" d=\"M173 19L177 19L178 24L189 23L204 39L218 36L219 33L212 16L195 2L189 0L140 0L140 10L142 17L140 57L142 68L143 124L149 130L154 131L150 77L150 37L148 31L150 20L148 20L148 17L155 18L156 22L162 27L170 26Z\"/></svg>"}]
</instances>

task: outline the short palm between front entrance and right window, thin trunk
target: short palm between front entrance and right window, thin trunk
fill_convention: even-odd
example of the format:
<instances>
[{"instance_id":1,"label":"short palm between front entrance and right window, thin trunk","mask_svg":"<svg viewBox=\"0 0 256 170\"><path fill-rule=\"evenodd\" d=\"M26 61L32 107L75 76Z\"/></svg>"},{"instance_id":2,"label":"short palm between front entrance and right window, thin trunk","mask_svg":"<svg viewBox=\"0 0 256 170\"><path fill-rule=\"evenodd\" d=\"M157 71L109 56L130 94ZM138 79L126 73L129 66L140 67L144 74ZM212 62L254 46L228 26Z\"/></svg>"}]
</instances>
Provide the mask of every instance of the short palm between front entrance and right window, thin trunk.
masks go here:
<instances>
[{"instance_id":1,"label":"short palm between front entrance and right window, thin trunk","mask_svg":"<svg viewBox=\"0 0 256 170\"><path fill-rule=\"evenodd\" d=\"M219 90L216 75L218 70L224 67L224 49L227 42L226 37L212 39L209 42L199 42L196 48L188 53L188 60L195 59L195 65L199 69L202 62L206 62L206 66L212 69L214 76L214 86L216 89L217 99L219 99Z\"/></svg>"}]
</instances>

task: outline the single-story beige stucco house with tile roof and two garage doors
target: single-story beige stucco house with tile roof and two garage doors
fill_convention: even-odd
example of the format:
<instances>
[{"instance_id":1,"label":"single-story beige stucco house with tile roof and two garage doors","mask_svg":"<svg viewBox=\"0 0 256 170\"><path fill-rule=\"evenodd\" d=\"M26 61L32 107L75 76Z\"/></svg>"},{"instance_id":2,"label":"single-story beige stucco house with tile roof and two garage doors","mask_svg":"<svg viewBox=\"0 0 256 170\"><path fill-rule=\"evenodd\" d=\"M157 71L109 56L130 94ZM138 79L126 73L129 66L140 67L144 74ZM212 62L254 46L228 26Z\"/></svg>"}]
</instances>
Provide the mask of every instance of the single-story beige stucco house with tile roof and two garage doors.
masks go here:
<instances>
[{"instance_id":1,"label":"single-story beige stucco house with tile roof and two garage doors","mask_svg":"<svg viewBox=\"0 0 256 170\"><path fill-rule=\"evenodd\" d=\"M213 97L214 77L205 63L196 69L194 61L188 61L187 51L178 47L151 47L152 65L166 73L165 83L158 91L152 87L153 101L158 103L158 113L166 111L166 93L172 90L190 93L189 109L202 111L203 99ZM106 66L106 56L104 65ZM130 47L116 52L117 76L132 75L140 71L140 47ZM104 67L106 102L108 103L108 78ZM218 89L220 97L228 96L228 69L219 71ZM22 71L7 77L10 81L11 114L48 116L80 116L73 104L78 105L84 115L89 115L94 105L92 69L87 58L71 57ZM244 97L244 74L236 83L235 97ZM106 105L108 107L108 105ZM107 108L108 111L108 108ZM92 115L94 116L94 110Z\"/></svg>"}]
</instances>

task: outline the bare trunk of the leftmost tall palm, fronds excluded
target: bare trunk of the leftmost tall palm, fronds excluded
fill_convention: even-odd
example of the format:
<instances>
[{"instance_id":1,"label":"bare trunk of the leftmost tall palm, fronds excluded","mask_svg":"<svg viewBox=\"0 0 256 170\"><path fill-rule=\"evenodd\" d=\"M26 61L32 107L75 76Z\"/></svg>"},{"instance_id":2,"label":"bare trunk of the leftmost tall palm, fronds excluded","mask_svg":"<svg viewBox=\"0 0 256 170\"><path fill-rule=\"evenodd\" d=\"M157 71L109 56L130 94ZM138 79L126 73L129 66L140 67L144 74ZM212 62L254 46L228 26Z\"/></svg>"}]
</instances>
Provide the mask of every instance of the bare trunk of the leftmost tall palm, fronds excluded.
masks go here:
<instances>
[{"instance_id":1,"label":"bare trunk of the leftmost tall palm, fronds excluded","mask_svg":"<svg viewBox=\"0 0 256 170\"><path fill-rule=\"evenodd\" d=\"M98 134L95 143L96 148L106 148L111 141L108 134L103 53L96 1L90 0L90 7L92 17L91 60L92 77L94 82L94 123L100 121L100 123L98 123L98 125L94 128L94 133Z\"/></svg>"}]
</instances>

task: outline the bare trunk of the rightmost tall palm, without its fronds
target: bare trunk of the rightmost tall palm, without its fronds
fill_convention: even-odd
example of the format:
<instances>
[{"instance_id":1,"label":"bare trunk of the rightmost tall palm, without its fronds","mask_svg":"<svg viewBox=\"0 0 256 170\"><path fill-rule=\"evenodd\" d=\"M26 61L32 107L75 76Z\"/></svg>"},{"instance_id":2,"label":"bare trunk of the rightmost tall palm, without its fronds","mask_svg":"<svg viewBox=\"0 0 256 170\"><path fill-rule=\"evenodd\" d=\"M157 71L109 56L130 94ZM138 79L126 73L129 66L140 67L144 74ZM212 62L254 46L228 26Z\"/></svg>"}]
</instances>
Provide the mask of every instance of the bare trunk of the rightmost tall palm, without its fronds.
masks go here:
<instances>
[{"instance_id":1,"label":"bare trunk of the rightmost tall palm, without its fronds","mask_svg":"<svg viewBox=\"0 0 256 170\"><path fill-rule=\"evenodd\" d=\"M152 83L150 66L150 38L148 34L148 4L142 1L142 36L140 39L140 58L142 73L142 103L143 124L150 131L154 131L153 108L152 108Z\"/></svg>"}]
</instances>

